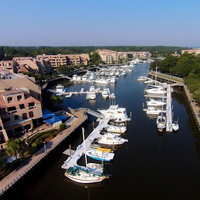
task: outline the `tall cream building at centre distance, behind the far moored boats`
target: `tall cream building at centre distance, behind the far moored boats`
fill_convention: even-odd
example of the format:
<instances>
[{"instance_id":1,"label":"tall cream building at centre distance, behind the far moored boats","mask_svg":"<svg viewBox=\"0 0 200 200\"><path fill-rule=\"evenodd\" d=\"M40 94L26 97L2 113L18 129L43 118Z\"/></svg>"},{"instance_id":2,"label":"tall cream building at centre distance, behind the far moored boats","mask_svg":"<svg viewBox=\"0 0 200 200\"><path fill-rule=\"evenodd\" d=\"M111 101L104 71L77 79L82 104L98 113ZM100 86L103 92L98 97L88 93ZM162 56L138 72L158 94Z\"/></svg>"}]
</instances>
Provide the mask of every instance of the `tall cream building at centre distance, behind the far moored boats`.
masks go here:
<instances>
[{"instance_id":1,"label":"tall cream building at centre distance, behind the far moored boats","mask_svg":"<svg viewBox=\"0 0 200 200\"><path fill-rule=\"evenodd\" d=\"M97 53L100 55L101 60L105 63L112 64L118 62L118 53L117 51L107 50L107 49L98 49Z\"/></svg>"}]
</instances>

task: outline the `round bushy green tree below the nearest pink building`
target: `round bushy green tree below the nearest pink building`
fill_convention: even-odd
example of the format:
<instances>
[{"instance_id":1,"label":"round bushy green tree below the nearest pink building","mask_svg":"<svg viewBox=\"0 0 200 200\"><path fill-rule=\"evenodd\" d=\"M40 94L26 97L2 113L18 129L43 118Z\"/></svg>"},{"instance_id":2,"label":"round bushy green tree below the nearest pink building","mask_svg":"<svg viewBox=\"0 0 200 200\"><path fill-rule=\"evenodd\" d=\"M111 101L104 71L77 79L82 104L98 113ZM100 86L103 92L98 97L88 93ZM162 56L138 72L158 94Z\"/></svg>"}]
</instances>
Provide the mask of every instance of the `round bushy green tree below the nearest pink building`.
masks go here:
<instances>
[{"instance_id":1,"label":"round bushy green tree below the nearest pink building","mask_svg":"<svg viewBox=\"0 0 200 200\"><path fill-rule=\"evenodd\" d=\"M22 138L9 140L6 145L7 154L9 156L16 156L16 159L17 155L23 156L24 151L26 149L25 141Z\"/></svg>"}]
</instances>

